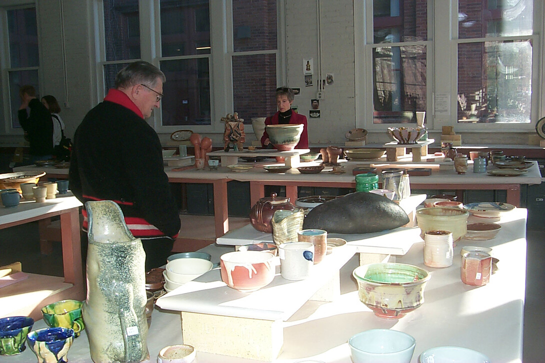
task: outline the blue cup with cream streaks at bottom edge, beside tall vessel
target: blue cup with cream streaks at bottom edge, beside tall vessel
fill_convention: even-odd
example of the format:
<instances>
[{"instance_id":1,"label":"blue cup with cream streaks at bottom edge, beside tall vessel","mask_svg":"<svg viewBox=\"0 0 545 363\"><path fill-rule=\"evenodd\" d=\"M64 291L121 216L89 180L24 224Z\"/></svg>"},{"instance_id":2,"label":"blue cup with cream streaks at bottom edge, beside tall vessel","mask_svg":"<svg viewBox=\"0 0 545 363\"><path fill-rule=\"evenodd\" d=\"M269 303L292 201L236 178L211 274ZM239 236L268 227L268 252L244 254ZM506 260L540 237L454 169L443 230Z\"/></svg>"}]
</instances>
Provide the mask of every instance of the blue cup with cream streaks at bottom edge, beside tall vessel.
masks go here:
<instances>
[{"instance_id":1,"label":"blue cup with cream streaks at bottom edge, beside tall vessel","mask_svg":"<svg viewBox=\"0 0 545 363\"><path fill-rule=\"evenodd\" d=\"M68 350L74 342L74 330L44 328L28 333L28 346L40 363L68 362Z\"/></svg>"}]
</instances>

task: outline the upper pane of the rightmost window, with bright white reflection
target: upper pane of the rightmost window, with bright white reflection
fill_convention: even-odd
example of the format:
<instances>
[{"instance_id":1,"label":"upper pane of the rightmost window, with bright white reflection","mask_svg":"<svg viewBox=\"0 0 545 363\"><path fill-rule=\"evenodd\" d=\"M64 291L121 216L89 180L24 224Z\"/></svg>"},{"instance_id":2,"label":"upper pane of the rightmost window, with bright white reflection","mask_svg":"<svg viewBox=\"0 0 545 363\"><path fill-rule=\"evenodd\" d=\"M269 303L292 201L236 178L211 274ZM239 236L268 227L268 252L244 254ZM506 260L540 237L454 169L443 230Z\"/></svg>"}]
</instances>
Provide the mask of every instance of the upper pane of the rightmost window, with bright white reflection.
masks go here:
<instances>
[{"instance_id":1,"label":"upper pane of the rightmost window, with bright white reflection","mask_svg":"<svg viewBox=\"0 0 545 363\"><path fill-rule=\"evenodd\" d=\"M532 0L459 0L458 38L532 34Z\"/></svg>"}]
</instances>

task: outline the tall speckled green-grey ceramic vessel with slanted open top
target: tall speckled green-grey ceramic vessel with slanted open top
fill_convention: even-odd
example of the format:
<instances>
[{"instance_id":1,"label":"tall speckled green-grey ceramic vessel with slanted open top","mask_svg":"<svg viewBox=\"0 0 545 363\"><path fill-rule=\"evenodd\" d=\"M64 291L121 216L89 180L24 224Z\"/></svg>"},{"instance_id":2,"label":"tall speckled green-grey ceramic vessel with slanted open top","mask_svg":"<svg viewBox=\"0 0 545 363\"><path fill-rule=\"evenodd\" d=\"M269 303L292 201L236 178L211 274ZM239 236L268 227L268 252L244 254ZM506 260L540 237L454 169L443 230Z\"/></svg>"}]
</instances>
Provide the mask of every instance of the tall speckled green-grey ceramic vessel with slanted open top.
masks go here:
<instances>
[{"instance_id":1,"label":"tall speckled green-grey ceramic vessel with slanted open top","mask_svg":"<svg viewBox=\"0 0 545 363\"><path fill-rule=\"evenodd\" d=\"M119 206L110 200L86 203L89 219L87 300L83 304L91 358L140 362L146 344L146 254Z\"/></svg>"}]
</instances>

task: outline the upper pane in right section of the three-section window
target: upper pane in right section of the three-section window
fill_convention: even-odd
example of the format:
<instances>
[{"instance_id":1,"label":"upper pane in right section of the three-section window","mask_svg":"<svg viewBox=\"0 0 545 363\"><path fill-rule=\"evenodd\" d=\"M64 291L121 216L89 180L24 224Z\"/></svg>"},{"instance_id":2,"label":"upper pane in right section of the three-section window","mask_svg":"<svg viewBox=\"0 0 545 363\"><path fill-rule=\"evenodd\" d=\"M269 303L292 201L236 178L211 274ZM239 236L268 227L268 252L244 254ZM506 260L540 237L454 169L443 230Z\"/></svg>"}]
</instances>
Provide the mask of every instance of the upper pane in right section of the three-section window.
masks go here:
<instances>
[{"instance_id":1,"label":"upper pane in right section of the three-section window","mask_svg":"<svg viewBox=\"0 0 545 363\"><path fill-rule=\"evenodd\" d=\"M235 52L276 50L276 1L233 0Z\"/></svg>"}]
</instances>

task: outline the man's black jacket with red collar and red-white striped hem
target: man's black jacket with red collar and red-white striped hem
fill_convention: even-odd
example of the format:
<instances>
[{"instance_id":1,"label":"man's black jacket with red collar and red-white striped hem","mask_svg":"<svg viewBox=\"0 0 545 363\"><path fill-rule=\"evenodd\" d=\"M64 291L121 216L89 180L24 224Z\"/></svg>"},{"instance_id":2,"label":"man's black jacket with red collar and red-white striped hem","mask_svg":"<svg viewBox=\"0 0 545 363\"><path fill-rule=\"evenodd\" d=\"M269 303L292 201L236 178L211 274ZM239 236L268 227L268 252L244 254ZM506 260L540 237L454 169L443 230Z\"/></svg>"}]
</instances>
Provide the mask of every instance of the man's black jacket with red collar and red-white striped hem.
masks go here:
<instances>
[{"instance_id":1,"label":"man's black jacket with red collar and red-white striped hem","mask_svg":"<svg viewBox=\"0 0 545 363\"><path fill-rule=\"evenodd\" d=\"M78 126L69 179L70 189L82 203L116 202L135 237L178 235L178 208L164 171L159 137L123 92L110 90ZM85 210L83 216L87 230Z\"/></svg>"}]
</instances>

